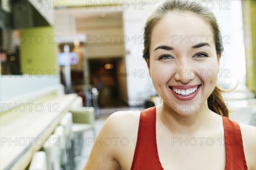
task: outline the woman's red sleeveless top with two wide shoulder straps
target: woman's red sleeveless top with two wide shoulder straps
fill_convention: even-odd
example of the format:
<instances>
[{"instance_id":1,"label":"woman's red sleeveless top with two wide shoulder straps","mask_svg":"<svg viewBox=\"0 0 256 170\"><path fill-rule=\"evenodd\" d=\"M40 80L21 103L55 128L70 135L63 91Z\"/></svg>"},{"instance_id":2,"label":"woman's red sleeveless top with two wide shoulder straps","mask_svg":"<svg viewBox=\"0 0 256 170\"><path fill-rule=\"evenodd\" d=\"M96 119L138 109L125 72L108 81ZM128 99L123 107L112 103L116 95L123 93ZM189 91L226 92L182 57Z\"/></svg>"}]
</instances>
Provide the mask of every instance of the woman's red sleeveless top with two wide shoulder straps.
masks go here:
<instances>
[{"instance_id":1,"label":"woman's red sleeveless top with two wide shoulder straps","mask_svg":"<svg viewBox=\"0 0 256 170\"><path fill-rule=\"evenodd\" d=\"M224 126L226 163L225 170L247 170L239 124L222 116ZM131 170L163 170L157 152L156 107L140 113L137 143Z\"/></svg>"}]
</instances>

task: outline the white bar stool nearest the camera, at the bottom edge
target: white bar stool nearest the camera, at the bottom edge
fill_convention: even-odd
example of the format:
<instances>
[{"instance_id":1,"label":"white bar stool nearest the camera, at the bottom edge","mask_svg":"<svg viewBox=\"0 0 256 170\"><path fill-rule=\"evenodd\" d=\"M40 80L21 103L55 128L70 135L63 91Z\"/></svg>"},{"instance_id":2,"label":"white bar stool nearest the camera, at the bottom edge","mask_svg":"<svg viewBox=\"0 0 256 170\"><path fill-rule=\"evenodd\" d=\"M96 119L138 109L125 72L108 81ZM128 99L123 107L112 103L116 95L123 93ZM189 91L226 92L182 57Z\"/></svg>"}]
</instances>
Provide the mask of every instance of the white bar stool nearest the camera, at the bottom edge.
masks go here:
<instances>
[{"instance_id":1,"label":"white bar stool nearest the camera, at the bottom edge","mask_svg":"<svg viewBox=\"0 0 256 170\"><path fill-rule=\"evenodd\" d=\"M29 170L47 170L47 159L44 151L34 153Z\"/></svg>"}]
</instances>

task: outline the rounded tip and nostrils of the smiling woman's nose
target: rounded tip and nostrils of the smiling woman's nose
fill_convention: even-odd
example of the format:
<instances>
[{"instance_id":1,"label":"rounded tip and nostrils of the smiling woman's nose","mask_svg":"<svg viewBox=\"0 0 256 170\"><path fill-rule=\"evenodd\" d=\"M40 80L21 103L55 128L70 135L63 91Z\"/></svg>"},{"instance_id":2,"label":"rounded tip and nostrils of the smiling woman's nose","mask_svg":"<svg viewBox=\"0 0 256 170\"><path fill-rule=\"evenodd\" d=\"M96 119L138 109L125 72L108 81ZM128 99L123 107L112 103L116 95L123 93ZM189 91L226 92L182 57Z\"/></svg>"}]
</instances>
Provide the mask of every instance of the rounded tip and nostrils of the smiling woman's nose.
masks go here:
<instances>
[{"instance_id":1,"label":"rounded tip and nostrils of the smiling woman's nose","mask_svg":"<svg viewBox=\"0 0 256 170\"><path fill-rule=\"evenodd\" d=\"M177 69L174 78L176 81L180 81L182 84L189 84L195 78L195 69L189 69L187 66L182 66Z\"/></svg>"}]
</instances>

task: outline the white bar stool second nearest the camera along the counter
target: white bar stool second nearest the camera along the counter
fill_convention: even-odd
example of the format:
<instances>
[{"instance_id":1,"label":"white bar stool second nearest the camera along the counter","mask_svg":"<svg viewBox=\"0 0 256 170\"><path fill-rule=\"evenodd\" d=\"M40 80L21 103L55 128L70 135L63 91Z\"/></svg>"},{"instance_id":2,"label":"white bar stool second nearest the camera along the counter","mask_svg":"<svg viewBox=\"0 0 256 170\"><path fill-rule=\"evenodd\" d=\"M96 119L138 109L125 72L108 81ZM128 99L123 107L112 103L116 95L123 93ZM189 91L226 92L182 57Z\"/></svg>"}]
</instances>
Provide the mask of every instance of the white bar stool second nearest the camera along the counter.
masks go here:
<instances>
[{"instance_id":1,"label":"white bar stool second nearest the camera along the counter","mask_svg":"<svg viewBox=\"0 0 256 170\"><path fill-rule=\"evenodd\" d=\"M44 152L47 158L48 170L61 169L61 150L59 145L58 136L54 134L50 135L44 143Z\"/></svg>"}]
</instances>

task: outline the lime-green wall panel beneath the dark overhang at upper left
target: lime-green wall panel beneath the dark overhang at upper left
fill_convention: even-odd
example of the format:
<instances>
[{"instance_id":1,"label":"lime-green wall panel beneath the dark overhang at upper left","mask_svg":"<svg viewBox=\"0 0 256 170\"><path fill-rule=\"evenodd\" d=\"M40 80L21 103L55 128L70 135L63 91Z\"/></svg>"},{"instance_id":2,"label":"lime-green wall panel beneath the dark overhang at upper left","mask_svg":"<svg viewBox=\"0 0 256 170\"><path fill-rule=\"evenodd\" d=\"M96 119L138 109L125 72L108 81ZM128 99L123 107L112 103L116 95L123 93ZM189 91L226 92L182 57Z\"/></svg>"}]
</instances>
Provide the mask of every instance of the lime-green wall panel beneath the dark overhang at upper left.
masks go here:
<instances>
[{"instance_id":1,"label":"lime-green wall panel beneath the dark overhang at upper left","mask_svg":"<svg viewBox=\"0 0 256 170\"><path fill-rule=\"evenodd\" d=\"M20 64L22 71L31 75L49 75L59 73L56 64L58 36L53 28L35 27L20 29Z\"/></svg>"}]
</instances>

